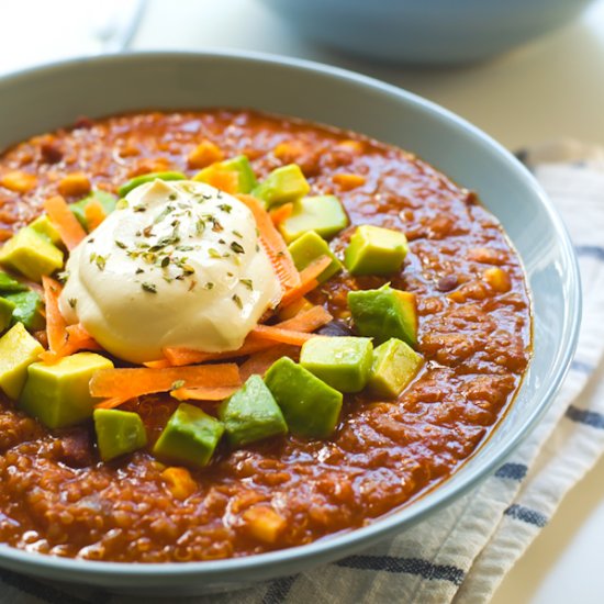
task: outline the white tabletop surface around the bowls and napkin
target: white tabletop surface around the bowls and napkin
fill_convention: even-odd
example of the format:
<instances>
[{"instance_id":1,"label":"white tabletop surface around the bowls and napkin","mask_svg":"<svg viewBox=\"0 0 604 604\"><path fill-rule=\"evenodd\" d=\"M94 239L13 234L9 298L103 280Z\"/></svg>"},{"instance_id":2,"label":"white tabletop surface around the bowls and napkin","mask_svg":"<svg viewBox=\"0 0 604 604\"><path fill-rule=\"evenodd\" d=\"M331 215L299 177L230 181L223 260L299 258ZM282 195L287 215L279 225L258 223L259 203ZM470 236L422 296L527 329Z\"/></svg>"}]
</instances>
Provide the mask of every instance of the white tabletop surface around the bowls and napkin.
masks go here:
<instances>
[{"instance_id":1,"label":"white tabletop surface around the bowls and napkin","mask_svg":"<svg viewBox=\"0 0 604 604\"><path fill-rule=\"evenodd\" d=\"M302 1L302 0L301 0ZM111 49L135 0L2 2L0 74ZM8 26L15 23L14 26ZM351 68L467 118L511 149L574 137L604 145L604 0L579 21L494 61L448 69L381 67L298 38L254 0L148 0L133 49L227 47ZM604 202L604 200L603 200ZM562 503L492 604L604 601L604 460Z\"/></svg>"}]
</instances>

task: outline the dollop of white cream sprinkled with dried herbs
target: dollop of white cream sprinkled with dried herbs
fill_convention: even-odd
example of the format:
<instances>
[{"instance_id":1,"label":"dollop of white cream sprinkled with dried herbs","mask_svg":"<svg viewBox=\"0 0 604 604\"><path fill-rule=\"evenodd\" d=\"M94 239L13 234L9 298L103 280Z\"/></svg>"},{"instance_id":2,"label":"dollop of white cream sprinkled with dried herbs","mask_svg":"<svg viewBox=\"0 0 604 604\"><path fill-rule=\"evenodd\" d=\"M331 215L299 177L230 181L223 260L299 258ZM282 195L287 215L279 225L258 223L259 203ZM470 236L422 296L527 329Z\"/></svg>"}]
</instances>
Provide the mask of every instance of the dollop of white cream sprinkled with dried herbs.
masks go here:
<instances>
[{"instance_id":1,"label":"dollop of white cream sprinkled with dried herbs","mask_svg":"<svg viewBox=\"0 0 604 604\"><path fill-rule=\"evenodd\" d=\"M281 297L248 208L188 180L131 191L66 270L61 314L132 362L166 346L236 349Z\"/></svg>"}]
</instances>

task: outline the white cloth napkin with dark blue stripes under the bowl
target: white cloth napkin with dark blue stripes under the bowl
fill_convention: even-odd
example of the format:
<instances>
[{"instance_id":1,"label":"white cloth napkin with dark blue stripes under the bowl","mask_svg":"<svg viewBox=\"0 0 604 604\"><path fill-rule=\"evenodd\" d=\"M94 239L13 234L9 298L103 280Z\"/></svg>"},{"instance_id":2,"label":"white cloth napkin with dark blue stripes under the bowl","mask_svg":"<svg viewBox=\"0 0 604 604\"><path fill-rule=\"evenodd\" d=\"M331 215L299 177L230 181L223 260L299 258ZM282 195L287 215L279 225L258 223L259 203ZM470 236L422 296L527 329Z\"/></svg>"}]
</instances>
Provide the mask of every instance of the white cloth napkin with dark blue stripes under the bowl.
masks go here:
<instances>
[{"instance_id":1,"label":"white cloth napkin with dark blue stripes under the bowl","mask_svg":"<svg viewBox=\"0 0 604 604\"><path fill-rule=\"evenodd\" d=\"M575 359L537 429L473 492L389 541L307 573L187 602L488 602L564 494L595 463L604 451L604 149L562 142L530 149L522 158L567 222L584 295ZM137 601L9 571L0 571L0 604Z\"/></svg>"}]
</instances>

